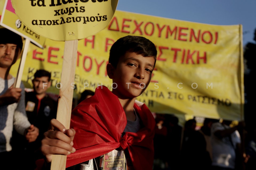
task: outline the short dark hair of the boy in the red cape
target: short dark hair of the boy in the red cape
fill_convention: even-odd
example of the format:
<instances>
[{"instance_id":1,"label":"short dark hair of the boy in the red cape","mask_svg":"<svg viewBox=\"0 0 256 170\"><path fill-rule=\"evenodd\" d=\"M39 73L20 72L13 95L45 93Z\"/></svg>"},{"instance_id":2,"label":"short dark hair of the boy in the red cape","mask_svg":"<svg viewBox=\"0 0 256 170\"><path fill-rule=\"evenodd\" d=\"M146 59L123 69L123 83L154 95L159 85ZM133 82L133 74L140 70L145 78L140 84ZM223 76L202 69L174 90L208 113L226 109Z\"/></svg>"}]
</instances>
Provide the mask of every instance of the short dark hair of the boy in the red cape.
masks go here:
<instances>
[{"instance_id":1,"label":"short dark hair of the boy in the red cape","mask_svg":"<svg viewBox=\"0 0 256 170\"><path fill-rule=\"evenodd\" d=\"M155 44L152 43L149 39L141 36L127 35L118 39L111 46L109 53L109 63L111 63L116 68L119 58L125 55L126 52L134 52L136 54L142 55L143 57L154 57L155 62L157 59L157 49Z\"/></svg>"}]
</instances>

